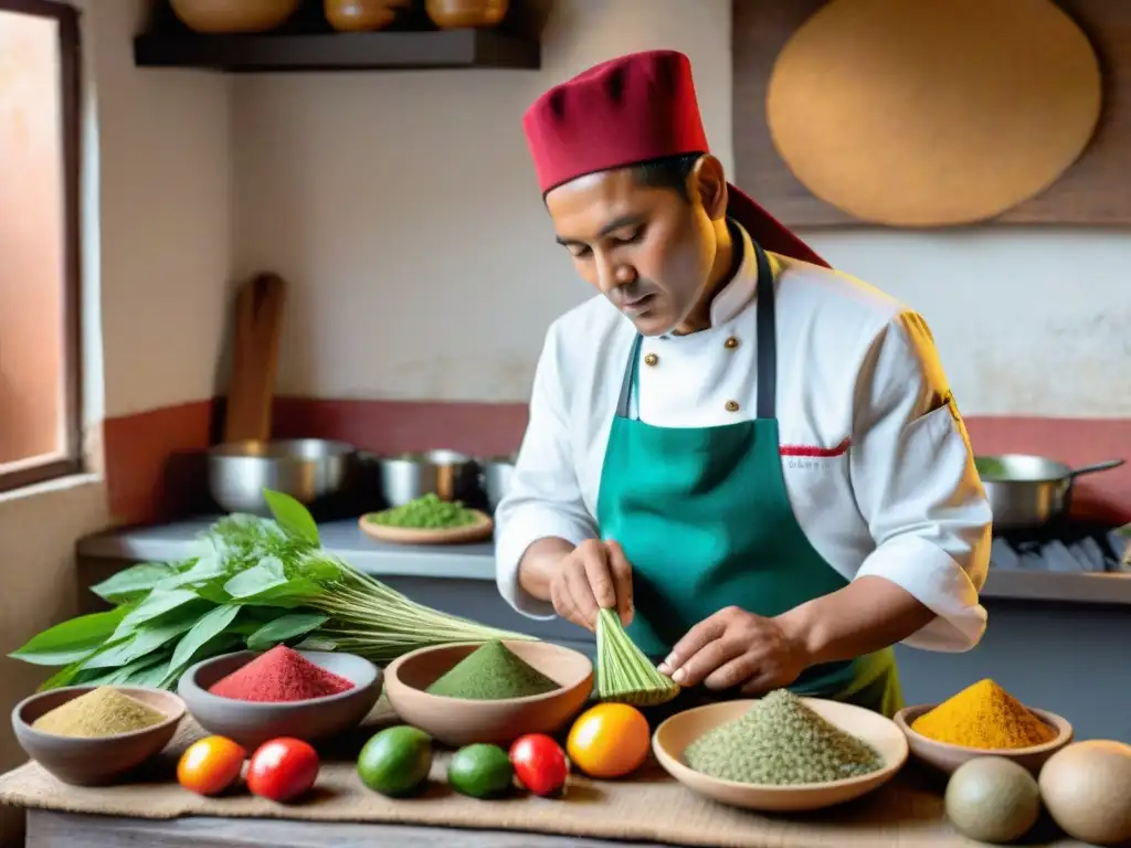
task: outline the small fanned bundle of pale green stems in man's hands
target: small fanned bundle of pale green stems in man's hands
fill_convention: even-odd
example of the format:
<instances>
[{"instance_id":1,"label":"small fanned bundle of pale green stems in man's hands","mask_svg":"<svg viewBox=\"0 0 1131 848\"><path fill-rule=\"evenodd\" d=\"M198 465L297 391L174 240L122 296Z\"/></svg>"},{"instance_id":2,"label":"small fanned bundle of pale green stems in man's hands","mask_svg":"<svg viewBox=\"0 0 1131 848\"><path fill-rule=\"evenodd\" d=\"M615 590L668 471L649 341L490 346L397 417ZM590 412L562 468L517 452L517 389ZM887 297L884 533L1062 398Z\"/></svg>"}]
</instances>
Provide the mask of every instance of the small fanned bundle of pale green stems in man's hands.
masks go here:
<instances>
[{"instance_id":1,"label":"small fanned bundle of pale green stems in man's hands","mask_svg":"<svg viewBox=\"0 0 1131 848\"><path fill-rule=\"evenodd\" d=\"M656 707L680 694L680 684L661 674L612 609L597 614L597 669L593 695L597 701Z\"/></svg>"}]
</instances>

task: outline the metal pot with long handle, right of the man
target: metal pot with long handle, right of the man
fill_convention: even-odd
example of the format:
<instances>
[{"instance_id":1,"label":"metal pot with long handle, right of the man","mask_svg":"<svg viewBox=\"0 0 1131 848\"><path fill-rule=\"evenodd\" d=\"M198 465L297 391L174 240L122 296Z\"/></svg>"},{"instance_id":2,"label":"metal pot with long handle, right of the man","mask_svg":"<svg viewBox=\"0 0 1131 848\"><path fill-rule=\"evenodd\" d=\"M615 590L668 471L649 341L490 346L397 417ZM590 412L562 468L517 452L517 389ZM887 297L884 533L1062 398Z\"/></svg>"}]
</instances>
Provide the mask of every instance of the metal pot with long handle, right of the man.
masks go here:
<instances>
[{"instance_id":1,"label":"metal pot with long handle, right of the man","mask_svg":"<svg viewBox=\"0 0 1131 848\"><path fill-rule=\"evenodd\" d=\"M1025 453L974 458L993 510L994 530L1034 530L1065 517L1077 477L1119 468L1124 461L1108 459L1073 469L1048 457Z\"/></svg>"}]
</instances>

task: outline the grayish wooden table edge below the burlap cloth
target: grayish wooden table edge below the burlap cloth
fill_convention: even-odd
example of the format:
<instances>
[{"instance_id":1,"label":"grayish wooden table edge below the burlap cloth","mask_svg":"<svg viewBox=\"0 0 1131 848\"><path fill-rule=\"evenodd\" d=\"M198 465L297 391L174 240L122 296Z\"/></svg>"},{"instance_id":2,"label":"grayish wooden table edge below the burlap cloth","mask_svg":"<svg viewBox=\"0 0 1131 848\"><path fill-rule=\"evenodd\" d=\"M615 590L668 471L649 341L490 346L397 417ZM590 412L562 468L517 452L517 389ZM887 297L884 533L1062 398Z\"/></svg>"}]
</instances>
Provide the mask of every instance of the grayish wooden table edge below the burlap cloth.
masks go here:
<instances>
[{"instance_id":1,"label":"grayish wooden table edge below the burlap cloth","mask_svg":"<svg viewBox=\"0 0 1131 848\"><path fill-rule=\"evenodd\" d=\"M623 848L604 839L391 824L180 819L143 821L28 811L27 848ZM636 848L671 848L632 842Z\"/></svg>"}]
</instances>

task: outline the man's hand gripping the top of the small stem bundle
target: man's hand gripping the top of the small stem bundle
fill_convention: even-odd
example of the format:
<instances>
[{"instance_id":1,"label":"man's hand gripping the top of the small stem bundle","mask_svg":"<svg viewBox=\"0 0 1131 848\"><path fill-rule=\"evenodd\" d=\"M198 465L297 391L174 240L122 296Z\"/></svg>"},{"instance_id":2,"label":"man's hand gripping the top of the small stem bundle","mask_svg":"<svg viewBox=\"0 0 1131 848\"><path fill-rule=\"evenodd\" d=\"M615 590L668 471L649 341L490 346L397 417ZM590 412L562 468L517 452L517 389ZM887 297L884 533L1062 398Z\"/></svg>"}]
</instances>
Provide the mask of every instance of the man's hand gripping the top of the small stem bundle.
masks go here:
<instances>
[{"instance_id":1,"label":"man's hand gripping the top of the small stem bundle","mask_svg":"<svg viewBox=\"0 0 1131 848\"><path fill-rule=\"evenodd\" d=\"M632 621L632 566L615 542L588 539L554 569L550 602L558 615L588 630L598 609L615 609L621 623Z\"/></svg>"}]
</instances>

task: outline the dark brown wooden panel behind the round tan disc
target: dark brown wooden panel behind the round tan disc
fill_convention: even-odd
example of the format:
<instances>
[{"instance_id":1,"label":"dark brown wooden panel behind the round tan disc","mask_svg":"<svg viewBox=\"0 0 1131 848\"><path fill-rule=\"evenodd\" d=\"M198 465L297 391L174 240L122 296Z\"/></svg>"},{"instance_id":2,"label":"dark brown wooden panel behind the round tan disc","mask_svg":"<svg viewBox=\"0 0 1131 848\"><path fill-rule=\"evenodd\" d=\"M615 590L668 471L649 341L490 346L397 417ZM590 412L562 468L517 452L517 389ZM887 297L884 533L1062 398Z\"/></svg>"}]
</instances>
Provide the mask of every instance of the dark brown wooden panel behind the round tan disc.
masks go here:
<instances>
[{"instance_id":1,"label":"dark brown wooden panel behind the round tan disc","mask_svg":"<svg viewBox=\"0 0 1131 848\"><path fill-rule=\"evenodd\" d=\"M874 226L814 197L770 140L766 87L789 36L827 0L737 0L732 27L735 182L788 226ZM1131 3L1060 0L1104 71L1104 111L1088 149L1056 183L986 224L1131 224Z\"/></svg>"}]
</instances>

